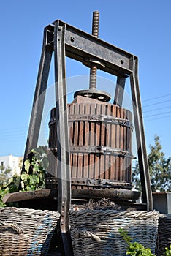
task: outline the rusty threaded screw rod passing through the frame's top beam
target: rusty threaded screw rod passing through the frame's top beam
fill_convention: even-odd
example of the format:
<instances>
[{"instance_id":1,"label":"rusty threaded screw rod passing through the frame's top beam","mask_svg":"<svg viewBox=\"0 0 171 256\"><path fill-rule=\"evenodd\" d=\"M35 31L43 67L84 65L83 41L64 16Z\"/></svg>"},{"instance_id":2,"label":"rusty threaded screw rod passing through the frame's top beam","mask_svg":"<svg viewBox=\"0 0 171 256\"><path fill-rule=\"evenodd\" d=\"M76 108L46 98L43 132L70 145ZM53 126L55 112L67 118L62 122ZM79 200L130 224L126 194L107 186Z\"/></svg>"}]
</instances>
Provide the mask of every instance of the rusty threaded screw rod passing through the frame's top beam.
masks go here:
<instances>
[{"instance_id":1,"label":"rusty threaded screw rod passing through the frame's top beam","mask_svg":"<svg viewBox=\"0 0 171 256\"><path fill-rule=\"evenodd\" d=\"M93 12L92 35L96 38L99 37L99 12ZM96 66L90 69L90 83L89 89L96 90Z\"/></svg>"}]
</instances>

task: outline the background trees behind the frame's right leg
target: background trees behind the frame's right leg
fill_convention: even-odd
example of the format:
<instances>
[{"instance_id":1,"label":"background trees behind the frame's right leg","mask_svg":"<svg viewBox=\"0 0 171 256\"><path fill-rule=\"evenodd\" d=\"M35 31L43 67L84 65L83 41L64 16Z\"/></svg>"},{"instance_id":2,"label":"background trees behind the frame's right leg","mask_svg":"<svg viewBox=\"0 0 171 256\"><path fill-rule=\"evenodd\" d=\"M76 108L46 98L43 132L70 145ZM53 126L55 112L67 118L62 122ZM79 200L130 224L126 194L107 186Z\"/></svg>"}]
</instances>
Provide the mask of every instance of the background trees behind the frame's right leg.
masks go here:
<instances>
[{"instance_id":1,"label":"background trees behind the frame's right leg","mask_svg":"<svg viewBox=\"0 0 171 256\"><path fill-rule=\"evenodd\" d=\"M161 151L159 136L155 135L154 146L150 146L150 154L148 154L148 165L151 176L151 189L153 192L159 190L171 191L171 158L166 159ZM140 170L138 162L132 168L132 182L135 189L141 191Z\"/></svg>"}]
</instances>

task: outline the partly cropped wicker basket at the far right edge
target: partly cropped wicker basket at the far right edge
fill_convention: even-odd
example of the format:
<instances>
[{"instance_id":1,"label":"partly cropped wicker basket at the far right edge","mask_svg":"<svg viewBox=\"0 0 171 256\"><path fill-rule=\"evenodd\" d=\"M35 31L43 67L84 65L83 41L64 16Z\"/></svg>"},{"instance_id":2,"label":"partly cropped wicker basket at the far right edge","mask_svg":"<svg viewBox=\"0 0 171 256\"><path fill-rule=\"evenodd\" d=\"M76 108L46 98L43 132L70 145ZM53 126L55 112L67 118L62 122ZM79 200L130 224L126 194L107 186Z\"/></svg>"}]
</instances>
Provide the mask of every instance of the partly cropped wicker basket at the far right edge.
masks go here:
<instances>
[{"instance_id":1,"label":"partly cropped wicker basket at the far right edge","mask_svg":"<svg viewBox=\"0 0 171 256\"><path fill-rule=\"evenodd\" d=\"M158 239L156 246L157 255L163 255L165 247L171 245L171 214L160 214Z\"/></svg>"}]
</instances>

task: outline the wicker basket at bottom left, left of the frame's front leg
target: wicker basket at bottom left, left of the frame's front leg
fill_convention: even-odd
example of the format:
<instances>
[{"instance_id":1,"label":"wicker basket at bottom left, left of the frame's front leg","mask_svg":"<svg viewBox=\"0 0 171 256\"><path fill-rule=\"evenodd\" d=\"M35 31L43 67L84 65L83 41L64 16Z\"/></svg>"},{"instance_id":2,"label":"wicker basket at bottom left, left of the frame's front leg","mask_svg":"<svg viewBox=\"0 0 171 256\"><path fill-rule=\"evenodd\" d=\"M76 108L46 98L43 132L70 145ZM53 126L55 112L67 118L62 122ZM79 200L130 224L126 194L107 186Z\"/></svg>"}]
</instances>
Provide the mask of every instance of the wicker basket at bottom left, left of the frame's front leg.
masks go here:
<instances>
[{"instance_id":1,"label":"wicker basket at bottom left, left of the frame's front leg","mask_svg":"<svg viewBox=\"0 0 171 256\"><path fill-rule=\"evenodd\" d=\"M0 255L47 255L58 212L0 208Z\"/></svg>"}]
</instances>

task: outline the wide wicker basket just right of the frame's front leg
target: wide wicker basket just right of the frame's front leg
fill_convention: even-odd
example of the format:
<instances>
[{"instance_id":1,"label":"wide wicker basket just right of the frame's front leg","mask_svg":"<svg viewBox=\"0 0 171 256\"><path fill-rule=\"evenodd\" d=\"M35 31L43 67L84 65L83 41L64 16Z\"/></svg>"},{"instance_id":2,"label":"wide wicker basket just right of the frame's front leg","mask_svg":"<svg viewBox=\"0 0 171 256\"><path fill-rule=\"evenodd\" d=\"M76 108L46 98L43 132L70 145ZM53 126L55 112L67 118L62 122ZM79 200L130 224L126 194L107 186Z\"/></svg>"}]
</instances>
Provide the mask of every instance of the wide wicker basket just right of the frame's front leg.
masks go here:
<instances>
[{"instance_id":1,"label":"wide wicker basket just right of the frame's front leg","mask_svg":"<svg viewBox=\"0 0 171 256\"><path fill-rule=\"evenodd\" d=\"M118 229L133 241L155 252L159 213L157 211L70 211L72 246L75 256L126 255L127 244Z\"/></svg>"}]
</instances>

